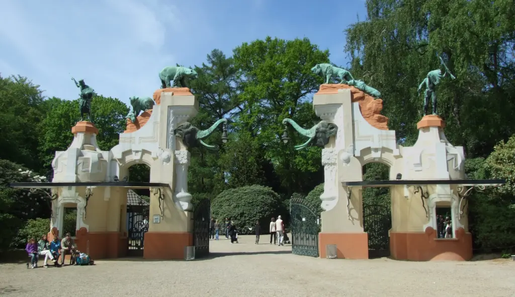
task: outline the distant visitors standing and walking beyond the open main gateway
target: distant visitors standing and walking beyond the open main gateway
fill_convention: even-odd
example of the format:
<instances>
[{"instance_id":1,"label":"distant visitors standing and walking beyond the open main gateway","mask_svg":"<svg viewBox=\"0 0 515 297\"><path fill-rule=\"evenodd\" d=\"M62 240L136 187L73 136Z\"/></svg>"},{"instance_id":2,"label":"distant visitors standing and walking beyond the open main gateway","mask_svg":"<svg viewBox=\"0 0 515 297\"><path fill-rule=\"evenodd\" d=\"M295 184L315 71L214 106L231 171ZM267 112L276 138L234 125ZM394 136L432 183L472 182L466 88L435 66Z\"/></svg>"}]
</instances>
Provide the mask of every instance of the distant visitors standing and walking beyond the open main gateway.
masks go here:
<instances>
[{"instance_id":1,"label":"distant visitors standing and walking beyond the open main gateway","mask_svg":"<svg viewBox=\"0 0 515 297\"><path fill-rule=\"evenodd\" d=\"M209 224L209 238L210 239L219 239L220 230L223 228L226 239L231 238L231 243L238 242L238 232L236 230L236 225L234 225L234 222L230 218L225 218L225 221L223 223L223 227L220 223L218 223L218 220L215 220L214 218L211 218L210 224ZM254 226L255 234L256 234L256 240L255 244L259 244L260 235L261 235L261 225L259 224L259 221L256 221L256 224ZM277 244L278 246L284 246L284 222L281 219L281 216L276 218L272 218L270 222L270 244ZM277 243L276 243L277 242Z\"/></svg>"}]
</instances>

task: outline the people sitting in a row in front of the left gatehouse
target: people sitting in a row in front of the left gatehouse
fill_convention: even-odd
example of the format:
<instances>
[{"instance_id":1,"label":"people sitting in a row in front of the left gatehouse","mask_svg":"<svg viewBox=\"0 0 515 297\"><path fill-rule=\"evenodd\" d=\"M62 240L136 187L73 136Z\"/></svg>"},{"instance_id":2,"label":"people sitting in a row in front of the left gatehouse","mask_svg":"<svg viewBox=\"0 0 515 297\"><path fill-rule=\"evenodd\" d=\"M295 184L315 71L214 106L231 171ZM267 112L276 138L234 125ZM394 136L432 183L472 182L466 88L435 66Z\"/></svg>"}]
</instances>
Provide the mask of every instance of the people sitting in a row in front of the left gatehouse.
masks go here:
<instances>
[{"instance_id":1,"label":"people sitting in a row in front of the left gatehouse","mask_svg":"<svg viewBox=\"0 0 515 297\"><path fill-rule=\"evenodd\" d=\"M41 240L36 242L32 237L28 240L25 250L30 257L30 268L38 267L39 256L44 256L43 267L48 268L48 260L52 261L55 267L64 265L64 256L71 255L72 265L75 264L76 245L70 233L66 233L62 240L54 236L52 242L47 240L46 234L41 236ZM59 256L61 256L61 264L58 263Z\"/></svg>"}]
</instances>

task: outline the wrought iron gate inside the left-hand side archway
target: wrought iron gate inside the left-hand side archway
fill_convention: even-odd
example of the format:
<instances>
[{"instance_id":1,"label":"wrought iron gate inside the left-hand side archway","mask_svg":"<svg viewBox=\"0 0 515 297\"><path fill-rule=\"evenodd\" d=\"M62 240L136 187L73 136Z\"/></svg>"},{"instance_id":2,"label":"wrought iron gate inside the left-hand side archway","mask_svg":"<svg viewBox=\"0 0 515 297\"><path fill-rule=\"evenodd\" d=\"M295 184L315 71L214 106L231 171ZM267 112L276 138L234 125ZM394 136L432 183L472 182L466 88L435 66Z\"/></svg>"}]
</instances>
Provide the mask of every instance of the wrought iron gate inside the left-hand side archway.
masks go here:
<instances>
[{"instance_id":1,"label":"wrought iron gate inside the left-hand side archway","mask_svg":"<svg viewBox=\"0 0 515 297\"><path fill-rule=\"evenodd\" d=\"M149 205L127 204L127 256L143 256ZM147 220L145 220L147 218Z\"/></svg>"}]
</instances>

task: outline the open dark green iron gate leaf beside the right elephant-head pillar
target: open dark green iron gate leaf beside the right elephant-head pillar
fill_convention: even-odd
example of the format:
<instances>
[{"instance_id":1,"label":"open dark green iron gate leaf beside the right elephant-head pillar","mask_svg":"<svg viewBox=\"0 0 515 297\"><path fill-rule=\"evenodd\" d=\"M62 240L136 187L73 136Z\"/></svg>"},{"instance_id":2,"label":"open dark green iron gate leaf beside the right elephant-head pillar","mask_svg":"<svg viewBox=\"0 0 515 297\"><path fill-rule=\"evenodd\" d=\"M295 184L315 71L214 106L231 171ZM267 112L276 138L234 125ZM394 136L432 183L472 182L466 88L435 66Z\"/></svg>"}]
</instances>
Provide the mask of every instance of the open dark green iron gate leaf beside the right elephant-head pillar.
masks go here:
<instances>
[{"instance_id":1,"label":"open dark green iron gate leaf beside the right elephant-head pillar","mask_svg":"<svg viewBox=\"0 0 515 297\"><path fill-rule=\"evenodd\" d=\"M302 199L290 200L291 252L296 255L318 257L319 218Z\"/></svg>"}]
</instances>

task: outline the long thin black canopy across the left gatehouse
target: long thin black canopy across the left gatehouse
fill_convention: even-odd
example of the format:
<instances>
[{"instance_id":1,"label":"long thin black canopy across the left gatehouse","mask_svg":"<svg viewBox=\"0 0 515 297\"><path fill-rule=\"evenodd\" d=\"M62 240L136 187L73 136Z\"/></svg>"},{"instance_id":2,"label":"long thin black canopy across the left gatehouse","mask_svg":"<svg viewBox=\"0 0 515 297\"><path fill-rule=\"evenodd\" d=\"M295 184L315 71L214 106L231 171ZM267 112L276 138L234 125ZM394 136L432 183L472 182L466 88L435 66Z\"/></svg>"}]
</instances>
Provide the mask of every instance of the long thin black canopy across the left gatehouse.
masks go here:
<instances>
[{"instance_id":1,"label":"long thin black canopy across the left gatehouse","mask_svg":"<svg viewBox=\"0 0 515 297\"><path fill-rule=\"evenodd\" d=\"M52 182L52 183L10 183L13 188L56 188L56 187L121 187L121 188L166 188L166 183L143 182Z\"/></svg>"}]
</instances>

